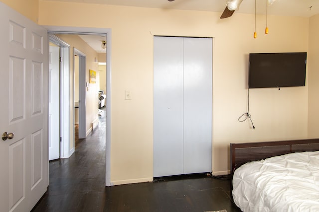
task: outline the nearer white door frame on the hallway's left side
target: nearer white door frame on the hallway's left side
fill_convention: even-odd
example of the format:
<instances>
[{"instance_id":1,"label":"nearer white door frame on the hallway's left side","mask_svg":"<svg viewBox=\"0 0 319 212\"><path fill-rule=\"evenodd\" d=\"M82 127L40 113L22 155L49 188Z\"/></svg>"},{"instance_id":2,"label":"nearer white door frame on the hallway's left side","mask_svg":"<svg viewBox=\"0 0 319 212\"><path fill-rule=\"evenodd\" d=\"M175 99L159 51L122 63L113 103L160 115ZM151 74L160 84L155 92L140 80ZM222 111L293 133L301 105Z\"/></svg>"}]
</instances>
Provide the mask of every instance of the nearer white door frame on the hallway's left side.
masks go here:
<instances>
[{"instance_id":1,"label":"nearer white door frame on the hallway's left side","mask_svg":"<svg viewBox=\"0 0 319 212\"><path fill-rule=\"evenodd\" d=\"M74 152L70 147L70 45L49 33L49 41L60 47L60 158L68 158Z\"/></svg>"}]
</instances>

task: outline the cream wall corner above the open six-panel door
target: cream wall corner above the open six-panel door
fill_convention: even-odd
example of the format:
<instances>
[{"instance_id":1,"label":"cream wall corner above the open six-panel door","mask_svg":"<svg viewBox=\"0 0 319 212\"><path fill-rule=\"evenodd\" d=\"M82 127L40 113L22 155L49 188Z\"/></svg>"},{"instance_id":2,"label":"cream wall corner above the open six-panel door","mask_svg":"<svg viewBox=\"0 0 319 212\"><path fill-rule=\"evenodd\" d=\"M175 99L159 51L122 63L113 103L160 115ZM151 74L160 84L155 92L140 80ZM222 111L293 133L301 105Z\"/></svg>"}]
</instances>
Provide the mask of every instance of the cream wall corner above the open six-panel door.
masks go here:
<instances>
[{"instance_id":1,"label":"cream wall corner above the open six-panel door","mask_svg":"<svg viewBox=\"0 0 319 212\"><path fill-rule=\"evenodd\" d=\"M0 0L22 15L31 19L35 23L38 22L39 0Z\"/></svg>"}]
</instances>

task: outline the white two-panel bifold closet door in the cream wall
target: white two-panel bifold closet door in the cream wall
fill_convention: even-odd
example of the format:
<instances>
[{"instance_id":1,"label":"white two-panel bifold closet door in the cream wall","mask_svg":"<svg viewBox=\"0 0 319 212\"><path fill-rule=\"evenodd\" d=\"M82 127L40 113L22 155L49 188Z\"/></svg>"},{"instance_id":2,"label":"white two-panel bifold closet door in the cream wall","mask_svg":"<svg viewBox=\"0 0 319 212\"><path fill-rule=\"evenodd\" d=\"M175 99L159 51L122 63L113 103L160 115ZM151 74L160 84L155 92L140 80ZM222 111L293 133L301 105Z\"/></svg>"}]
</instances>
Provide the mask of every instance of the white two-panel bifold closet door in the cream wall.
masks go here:
<instances>
[{"instance_id":1,"label":"white two-panel bifold closet door in the cream wall","mask_svg":"<svg viewBox=\"0 0 319 212\"><path fill-rule=\"evenodd\" d=\"M212 38L154 37L154 177L211 172Z\"/></svg>"}]
</instances>

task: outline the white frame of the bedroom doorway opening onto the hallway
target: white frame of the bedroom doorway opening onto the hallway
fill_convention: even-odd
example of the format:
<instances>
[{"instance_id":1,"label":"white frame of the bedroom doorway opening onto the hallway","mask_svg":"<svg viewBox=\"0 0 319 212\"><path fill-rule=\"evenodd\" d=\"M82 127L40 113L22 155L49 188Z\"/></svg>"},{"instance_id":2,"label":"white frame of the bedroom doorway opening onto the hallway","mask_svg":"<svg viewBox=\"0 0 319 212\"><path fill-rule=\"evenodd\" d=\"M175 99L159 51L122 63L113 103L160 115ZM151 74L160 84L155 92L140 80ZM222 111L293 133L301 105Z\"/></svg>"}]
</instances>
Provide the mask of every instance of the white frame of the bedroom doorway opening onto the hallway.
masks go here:
<instances>
[{"instance_id":1,"label":"white frame of the bedroom doorway opening onto the hallway","mask_svg":"<svg viewBox=\"0 0 319 212\"><path fill-rule=\"evenodd\" d=\"M106 174L105 185L111 186L111 47L112 29L68 26L44 26L49 33L105 34L106 35ZM61 82L62 83L62 82ZM69 83L64 83L68 84ZM70 95L70 94L69 94Z\"/></svg>"}]
</instances>

